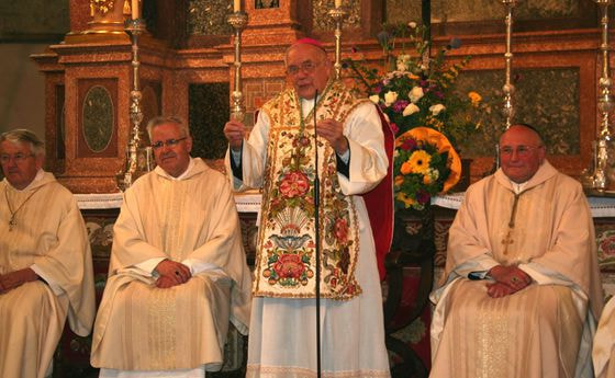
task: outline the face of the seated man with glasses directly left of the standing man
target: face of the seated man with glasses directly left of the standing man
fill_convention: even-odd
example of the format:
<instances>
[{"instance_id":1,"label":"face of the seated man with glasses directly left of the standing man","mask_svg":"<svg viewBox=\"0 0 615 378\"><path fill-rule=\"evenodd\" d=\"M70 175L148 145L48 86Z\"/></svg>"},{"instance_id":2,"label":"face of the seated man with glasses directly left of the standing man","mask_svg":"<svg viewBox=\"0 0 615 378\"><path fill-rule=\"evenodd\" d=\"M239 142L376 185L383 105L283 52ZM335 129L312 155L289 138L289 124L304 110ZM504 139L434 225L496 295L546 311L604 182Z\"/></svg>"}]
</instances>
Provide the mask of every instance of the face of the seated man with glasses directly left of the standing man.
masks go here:
<instances>
[{"instance_id":1,"label":"face of the seated man with glasses directly left of the standing man","mask_svg":"<svg viewBox=\"0 0 615 378\"><path fill-rule=\"evenodd\" d=\"M165 172L174 177L186 172L190 163L192 138L186 136L179 125L168 123L154 127L152 146L154 146L154 159Z\"/></svg>"}]
</instances>

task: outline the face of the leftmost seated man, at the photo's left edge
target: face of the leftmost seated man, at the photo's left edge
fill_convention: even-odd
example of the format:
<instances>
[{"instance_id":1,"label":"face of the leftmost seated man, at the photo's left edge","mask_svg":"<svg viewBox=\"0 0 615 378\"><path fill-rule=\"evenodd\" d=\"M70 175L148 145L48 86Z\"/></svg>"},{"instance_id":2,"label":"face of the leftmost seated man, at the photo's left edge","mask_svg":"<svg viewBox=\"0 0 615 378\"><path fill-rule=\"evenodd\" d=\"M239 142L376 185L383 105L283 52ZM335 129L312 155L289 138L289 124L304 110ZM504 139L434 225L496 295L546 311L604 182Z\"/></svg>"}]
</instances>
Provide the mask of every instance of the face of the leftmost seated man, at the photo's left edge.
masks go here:
<instances>
[{"instance_id":1,"label":"face of the leftmost seated man, at the photo's left edge","mask_svg":"<svg viewBox=\"0 0 615 378\"><path fill-rule=\"evenodd\" d=\"M30 144L4 140L0 142L0 163L9 183L21 191L43 168L43 157L32 153Z\"/></svg>"}]
</instances>

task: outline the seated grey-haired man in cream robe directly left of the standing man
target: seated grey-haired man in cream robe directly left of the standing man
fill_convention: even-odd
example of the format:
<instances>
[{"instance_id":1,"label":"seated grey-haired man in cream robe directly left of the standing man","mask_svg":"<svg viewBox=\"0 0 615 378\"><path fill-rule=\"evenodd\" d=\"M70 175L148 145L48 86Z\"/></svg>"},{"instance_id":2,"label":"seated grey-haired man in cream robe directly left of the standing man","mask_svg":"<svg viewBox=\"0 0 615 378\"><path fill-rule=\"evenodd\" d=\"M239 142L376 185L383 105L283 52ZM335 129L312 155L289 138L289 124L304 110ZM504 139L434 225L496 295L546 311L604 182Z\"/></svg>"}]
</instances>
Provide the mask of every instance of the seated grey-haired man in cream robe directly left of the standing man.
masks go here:
<instances>
[{"instance_id":1,"label":"seated grey-haired man in cream robe directly left of the standing man","mask_svg":"<svg viewBox=\"0 0 615 378\"><path fill-rule=\"evenodd\" d=\"M101 377L204 377L228 321L247 333L250 273L225 176L192 159L187 125L147 131L158 167L124 193L91 363Z\"/></svg>"}]
</instances>

